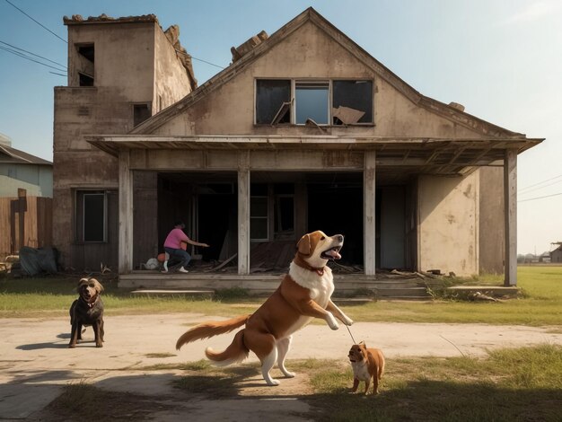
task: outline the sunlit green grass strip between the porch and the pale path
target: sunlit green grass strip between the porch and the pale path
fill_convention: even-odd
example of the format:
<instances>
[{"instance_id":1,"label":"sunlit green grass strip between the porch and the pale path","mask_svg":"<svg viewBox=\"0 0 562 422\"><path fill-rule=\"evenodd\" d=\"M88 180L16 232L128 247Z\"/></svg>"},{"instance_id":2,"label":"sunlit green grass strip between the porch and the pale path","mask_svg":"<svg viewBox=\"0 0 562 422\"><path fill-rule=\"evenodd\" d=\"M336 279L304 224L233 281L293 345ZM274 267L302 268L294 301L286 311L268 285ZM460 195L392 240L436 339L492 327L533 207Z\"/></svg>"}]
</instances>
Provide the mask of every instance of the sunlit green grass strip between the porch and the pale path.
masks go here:
<instances>
[{"instance_id":1,"label":"sunlit green grass strip between the porch and the pale path","mask_svg":"<svg viewBox=\"0 0 562 422\"><path fill-rule=\"evenodd\" d=\"M445 322L518 324L562 327L562 267L520 267L524 295L502 303L435 300L431 302L378 301L342 306L355 321ZM501 284L498 276L465 280L472 284ZM250 297L243 289L219 291L214 298L196 296L139 297L119 289L115 280L105 287L106 315L193 312L230 317L254 312L263 297ZM5 278L0 281L0 318L66 317L75 300L77 280L70 277ZM558 330L558 329L557 329Z\"/></svg>"}]
</instances>

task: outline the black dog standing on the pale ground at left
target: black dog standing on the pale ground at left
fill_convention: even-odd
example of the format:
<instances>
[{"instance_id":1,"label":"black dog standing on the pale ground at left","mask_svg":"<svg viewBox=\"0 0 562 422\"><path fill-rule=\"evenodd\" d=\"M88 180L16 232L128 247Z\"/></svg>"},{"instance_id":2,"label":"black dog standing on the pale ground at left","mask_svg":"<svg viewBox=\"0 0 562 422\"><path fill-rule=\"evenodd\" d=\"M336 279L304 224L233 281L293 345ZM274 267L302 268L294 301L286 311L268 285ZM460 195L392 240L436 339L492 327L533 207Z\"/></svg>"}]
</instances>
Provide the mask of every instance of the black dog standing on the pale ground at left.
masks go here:
<instances>
[{"instance_id":1,"label":"black dog standing on the pale ground at left","mask_svg":"<svg viewBox=\"0 0 562 422\"><path fill-rule=\"evenodd\" d=\"M68 347L76 347L82 339L82 326L92 325L96 347L103 347L103 302L101 292L103 286L95 278L82 278L76 288L78 299L70 306L70 343Z\"/></svg>"}]
</instances>

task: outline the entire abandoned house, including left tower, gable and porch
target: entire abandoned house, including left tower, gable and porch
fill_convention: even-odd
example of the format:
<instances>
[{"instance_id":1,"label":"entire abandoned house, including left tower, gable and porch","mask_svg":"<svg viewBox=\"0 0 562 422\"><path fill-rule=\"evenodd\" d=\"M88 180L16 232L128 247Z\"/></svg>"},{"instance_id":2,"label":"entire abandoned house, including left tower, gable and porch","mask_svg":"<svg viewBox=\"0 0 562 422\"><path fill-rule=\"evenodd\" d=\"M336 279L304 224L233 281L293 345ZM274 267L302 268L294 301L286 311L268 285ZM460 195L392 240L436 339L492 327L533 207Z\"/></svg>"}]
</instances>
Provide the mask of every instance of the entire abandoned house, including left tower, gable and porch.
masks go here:
<instances>
[{"instance_id":1,"label":"entire abandoned house, including left tower, gable and porch","mask_svg":"<svg viewBox=\"0 0 562 422\"><path fill-rule=\"evenodd\" d=\"M54 237L67 268L102 262L139 286L139 263L181 218L211 245L192 252L231 259L245 280L287 268L320 229L346 236L339 264L363 279L439 270L516 284L517 155L542 139L417 92L312 8L232 48L201 86L178 29L153 15L64 22Z\"/></svg>"}]
</instances>

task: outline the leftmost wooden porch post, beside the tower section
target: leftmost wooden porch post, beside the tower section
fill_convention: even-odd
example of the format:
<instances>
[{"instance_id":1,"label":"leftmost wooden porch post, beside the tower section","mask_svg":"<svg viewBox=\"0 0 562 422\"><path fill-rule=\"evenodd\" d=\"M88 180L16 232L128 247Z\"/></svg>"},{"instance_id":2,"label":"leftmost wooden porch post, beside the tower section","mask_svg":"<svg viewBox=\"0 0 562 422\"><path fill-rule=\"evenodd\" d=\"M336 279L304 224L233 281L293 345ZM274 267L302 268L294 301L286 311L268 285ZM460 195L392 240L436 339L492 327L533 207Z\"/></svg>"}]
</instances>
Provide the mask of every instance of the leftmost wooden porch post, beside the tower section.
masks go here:
<instances>
[{"instance_id":1,"label":"leftmost wooden porch post, beside the tower section","mask_svg":"<svg viewBox=\"0 0 562 422\"><path fill-rule=\"evenodd\" d=\"M119 274L133 269L133 178L130 153L119 153Z\"/></svg>"}]
</instances>

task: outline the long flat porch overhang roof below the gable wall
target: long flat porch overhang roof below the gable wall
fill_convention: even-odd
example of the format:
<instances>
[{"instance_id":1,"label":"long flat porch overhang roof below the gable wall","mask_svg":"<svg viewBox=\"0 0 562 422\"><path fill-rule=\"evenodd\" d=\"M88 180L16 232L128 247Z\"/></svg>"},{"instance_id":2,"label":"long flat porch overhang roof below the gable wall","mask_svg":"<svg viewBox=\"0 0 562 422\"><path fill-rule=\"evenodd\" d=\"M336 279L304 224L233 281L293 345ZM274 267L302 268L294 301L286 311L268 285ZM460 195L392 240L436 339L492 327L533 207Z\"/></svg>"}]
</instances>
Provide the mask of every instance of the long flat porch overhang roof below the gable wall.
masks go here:
<instances>
[{"instance_id":1,"label":"long flat porch overhang roof below the gable wall","mask_svg":"<svg viewBox=\"0 0 562 422\"><path fill-rule=\"evenodd\" d=\"M86 136L108 154L130 150L343 150L376 151L378 170L417 171L425 174L467 174L480 166L503 165L505 151L517 154L540 144L525 136L435 138L387 136Z\"/></svg>"}]
</instances>

